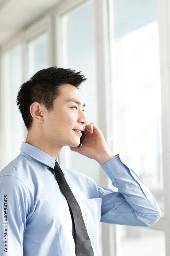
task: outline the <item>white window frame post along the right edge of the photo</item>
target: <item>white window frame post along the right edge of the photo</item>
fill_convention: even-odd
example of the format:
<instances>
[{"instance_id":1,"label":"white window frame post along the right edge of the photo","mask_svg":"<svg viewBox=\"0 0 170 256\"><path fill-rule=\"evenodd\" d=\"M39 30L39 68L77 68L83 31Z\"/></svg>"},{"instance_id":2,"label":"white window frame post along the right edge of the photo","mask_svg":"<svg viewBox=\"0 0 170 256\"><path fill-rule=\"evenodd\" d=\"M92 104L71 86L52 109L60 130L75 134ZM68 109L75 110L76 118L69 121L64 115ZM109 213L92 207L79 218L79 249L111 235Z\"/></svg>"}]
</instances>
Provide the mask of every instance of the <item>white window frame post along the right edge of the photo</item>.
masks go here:
<instances>
[{"instance_id":1,"label":"white window frame post along the right edge of the photo","mask_svg":"<svg viewBox=\"0 0 170 256\"><path fill-rule=\"evenodd\" d=\"M159 47L160 47L160 70L169 63L170 56L170 1L156 1L157 19L159 26ZM170 148L170 71L167 69L161 76L161 97L162 97L162 154L164 155ZM165 235L166 240L170 237L170 157L168 156L163 162L163 184L164 184L164 201L165 201ZM170 255L170 243L166 244L166 255Z\"/></svg>"}]
</instances>

